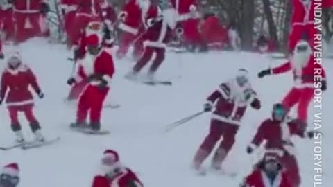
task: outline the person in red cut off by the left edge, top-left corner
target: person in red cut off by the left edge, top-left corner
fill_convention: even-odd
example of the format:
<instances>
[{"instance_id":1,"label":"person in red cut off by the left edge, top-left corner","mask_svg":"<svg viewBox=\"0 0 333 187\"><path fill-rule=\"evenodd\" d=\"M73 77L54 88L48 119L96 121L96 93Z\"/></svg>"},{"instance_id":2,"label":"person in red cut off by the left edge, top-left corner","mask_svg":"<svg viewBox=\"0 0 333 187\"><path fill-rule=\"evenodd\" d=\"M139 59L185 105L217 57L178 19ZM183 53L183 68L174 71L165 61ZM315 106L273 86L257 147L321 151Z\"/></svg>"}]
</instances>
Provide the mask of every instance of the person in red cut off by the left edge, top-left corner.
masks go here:
<instances>
[{"instance_id":1,"label":"person in red cut off by the left edge, top-left corner","mask_svg":"<svg viewBox=\"0 0 333 187\"><path fill-rule=\"evenodd\" d=\"M0 1L0 31L5 34L5 40L14 38L15 27L12 4L8 0Z\"/></svg>"}]
</instances>

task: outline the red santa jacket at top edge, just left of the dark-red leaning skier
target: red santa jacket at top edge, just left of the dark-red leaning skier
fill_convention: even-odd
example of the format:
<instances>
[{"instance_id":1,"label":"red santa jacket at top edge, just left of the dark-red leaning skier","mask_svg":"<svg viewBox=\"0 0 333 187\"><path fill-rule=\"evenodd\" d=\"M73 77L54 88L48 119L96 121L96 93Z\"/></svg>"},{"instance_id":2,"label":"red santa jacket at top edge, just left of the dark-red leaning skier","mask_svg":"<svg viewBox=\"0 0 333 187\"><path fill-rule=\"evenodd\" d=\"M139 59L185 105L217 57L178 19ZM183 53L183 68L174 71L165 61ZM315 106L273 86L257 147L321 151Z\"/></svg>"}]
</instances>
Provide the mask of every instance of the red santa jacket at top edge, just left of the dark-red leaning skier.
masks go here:
<instances>
[{"instance_id":1,"label":"red santa jacket at top edge, just left of the dark-red leaning skier","mask_svg":"<svg viewBox=\"0 0 333 187\"><path fill-rule=\"evenodd\" d=\"M123 6L119 18L122 20L119 24L121 30L133 35L139 33L139 27L142 25L142 9L136 0L130 0Z\"/></svg>"}]
</instances>

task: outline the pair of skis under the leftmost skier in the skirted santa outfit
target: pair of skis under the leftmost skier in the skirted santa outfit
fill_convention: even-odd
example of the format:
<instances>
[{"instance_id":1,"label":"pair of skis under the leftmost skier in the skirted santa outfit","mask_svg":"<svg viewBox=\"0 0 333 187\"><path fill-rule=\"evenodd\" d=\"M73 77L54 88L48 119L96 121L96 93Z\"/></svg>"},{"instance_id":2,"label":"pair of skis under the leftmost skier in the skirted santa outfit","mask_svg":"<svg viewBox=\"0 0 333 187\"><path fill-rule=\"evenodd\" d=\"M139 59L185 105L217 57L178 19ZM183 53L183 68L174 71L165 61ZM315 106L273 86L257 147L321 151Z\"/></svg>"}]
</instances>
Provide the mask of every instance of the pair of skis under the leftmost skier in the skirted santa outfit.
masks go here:
<instances>
[{"instance_id":1,"label":"pair of skis under the leftmost skier in the skirted santa outfit","mask_svg":"<svg viewBox=\"0 0 333 187\"><path fill-rule=\"evenodd\" d=\"M12 150L15 148L21 148L22 150L30 150L33 148L40 148L45 145L51 145L58 141L60 141L60 137L56 137L54 139L48 139L48 140L44 140L44 141L24 141L23 143L15 143L14 145L0 147L0 150L6 151L6 150Z\"/></svg>"}]
</instances>

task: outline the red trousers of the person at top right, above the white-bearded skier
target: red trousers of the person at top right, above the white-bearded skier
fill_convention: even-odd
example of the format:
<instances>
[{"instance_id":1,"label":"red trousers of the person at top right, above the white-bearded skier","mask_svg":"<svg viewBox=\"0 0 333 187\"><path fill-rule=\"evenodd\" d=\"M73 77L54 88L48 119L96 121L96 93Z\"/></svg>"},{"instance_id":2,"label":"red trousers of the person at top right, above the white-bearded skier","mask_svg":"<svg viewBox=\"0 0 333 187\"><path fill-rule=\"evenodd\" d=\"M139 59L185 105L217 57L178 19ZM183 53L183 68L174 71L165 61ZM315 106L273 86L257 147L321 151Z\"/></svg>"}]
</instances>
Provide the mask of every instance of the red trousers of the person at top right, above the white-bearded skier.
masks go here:
<instances>
[{"instance_id":1,"label":"red trousers of the person at top right, above the white-bearded skier","mask_svg":"<svg viewBox=\"0 0 333 187\"><path fill-rule=\"evenodd\" d=\"M314 28L314 24L293 25L289 35L289 51L293 51L297 42L302 38L303 34L307 34L309 36L310 46L314 46L314 36L316 33L318 32Z\"/></svg>"}]
</instances>

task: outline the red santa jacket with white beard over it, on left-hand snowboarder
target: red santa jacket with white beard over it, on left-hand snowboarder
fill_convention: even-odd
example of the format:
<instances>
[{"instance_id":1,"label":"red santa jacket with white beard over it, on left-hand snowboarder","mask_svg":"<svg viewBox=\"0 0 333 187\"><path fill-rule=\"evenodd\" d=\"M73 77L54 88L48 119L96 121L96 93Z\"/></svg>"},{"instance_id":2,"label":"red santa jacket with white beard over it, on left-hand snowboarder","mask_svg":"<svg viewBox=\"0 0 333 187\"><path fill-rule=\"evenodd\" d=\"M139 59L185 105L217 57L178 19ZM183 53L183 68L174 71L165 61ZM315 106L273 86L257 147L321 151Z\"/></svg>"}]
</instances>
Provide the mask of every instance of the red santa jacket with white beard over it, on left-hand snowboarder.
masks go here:
<instances>
[{"instance_id":1,"label":"red santa jacket with white beard over it, on left-hand snowboarder","mask_svg":"<svg viewBox=\"0 0 333 187\"><path fill-rule=\"evenodd\" d=\"M96 56L86 53L83 59L78 60L77 66L76 82L85 80L90 75L99 75L107 82L110 82L114 74L114 62L110 51L107 49L102 49ZM100 80L89 82L91 85L100 83Z\"/></svg>"}]
</instances>

